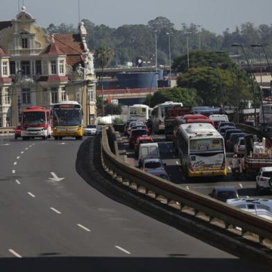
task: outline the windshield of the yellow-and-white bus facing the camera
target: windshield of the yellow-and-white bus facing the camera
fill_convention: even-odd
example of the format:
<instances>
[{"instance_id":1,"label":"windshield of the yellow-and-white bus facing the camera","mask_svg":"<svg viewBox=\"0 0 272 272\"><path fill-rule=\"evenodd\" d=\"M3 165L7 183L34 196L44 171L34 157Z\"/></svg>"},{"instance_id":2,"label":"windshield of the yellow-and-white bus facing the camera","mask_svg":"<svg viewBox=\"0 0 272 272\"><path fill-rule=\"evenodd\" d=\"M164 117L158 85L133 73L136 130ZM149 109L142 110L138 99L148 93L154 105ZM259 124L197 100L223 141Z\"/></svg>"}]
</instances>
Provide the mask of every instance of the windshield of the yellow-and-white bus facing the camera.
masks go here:
<instances>
[{"instance_id":1,"label":"windshield of the yellow-and-white bus facing the camera","mask_svg":"<svg viewBox=\"0 0 272 272\"><path fill-rule=\"evenodd\" d=\"M80 109L54 109L53 126L79 126L81 124Z\"/></svg>"}]
</instances>

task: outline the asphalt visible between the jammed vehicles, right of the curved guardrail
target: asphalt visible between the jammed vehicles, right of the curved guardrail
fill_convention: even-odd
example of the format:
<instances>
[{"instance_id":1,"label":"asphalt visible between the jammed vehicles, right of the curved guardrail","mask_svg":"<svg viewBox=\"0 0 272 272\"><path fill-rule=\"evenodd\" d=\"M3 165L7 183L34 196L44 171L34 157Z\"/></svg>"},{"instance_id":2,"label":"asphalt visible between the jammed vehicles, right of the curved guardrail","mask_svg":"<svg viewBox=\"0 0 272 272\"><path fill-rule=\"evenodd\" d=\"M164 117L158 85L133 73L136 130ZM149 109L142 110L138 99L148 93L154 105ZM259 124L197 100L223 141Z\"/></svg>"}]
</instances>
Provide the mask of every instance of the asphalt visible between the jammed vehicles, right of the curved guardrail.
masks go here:
<instances>
[{"instance_id":1,"label":"asphalt visible between the jammed vehicles, right of the curved guardrail","mask_svg":"<svg viewBox=\"0 0 272 272\"><path fill-rule=\"evenodd\" d=\"M228 175L226 177L196 177L188 180L182 171L180 160L173 149L172 142L165 142L165 138L161 135L155 135L155 139L158 140L162 162L167 164L167 174L169 175L171 182L175 183L176 185L185 187L187 189L192 189L205 195L210 194L212 189L214 189L216 186L233 186L237 189L239 196L241 197L272 199L272 193L269 194L267 191L262 196L258 196L256 182L254 179L248 179L241 174L239 179L236 180L232 176L230 162L232 161L233 153L227 153ZM126 137L124 137L124 142L128 158L135 159L134 151L128 148ZM134 161L134 165L137 166L136 159Z\"/></svg>"}]
</instances>

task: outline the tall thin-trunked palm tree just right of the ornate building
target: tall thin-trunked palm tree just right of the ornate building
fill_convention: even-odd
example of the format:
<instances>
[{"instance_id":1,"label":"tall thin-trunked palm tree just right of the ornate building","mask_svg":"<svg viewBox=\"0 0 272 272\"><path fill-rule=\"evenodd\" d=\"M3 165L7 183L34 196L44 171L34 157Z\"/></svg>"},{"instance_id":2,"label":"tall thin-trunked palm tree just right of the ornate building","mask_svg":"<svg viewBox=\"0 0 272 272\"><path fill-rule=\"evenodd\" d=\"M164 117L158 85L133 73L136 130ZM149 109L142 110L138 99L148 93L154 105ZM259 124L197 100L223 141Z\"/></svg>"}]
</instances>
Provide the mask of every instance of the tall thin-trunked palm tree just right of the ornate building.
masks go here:
<instances>
[{"instance_id":1,"label":"tall thin-trunked palm tree just right of the ornate building","mask_svg":"<svg viewBox=\"0 0 272 272\"><path fill-rule=\"evenodd\" d=\"M94 60L96 61L96 64L101 67L101 91L102 91L102 116L104 116L104 96L103 96L103 72L104 68L108 63L110 62L110 59L112 58L113 53L110 49L110 47L106 45L99 46L98 49L94 52Z\"/></svg>"}]
</instances>

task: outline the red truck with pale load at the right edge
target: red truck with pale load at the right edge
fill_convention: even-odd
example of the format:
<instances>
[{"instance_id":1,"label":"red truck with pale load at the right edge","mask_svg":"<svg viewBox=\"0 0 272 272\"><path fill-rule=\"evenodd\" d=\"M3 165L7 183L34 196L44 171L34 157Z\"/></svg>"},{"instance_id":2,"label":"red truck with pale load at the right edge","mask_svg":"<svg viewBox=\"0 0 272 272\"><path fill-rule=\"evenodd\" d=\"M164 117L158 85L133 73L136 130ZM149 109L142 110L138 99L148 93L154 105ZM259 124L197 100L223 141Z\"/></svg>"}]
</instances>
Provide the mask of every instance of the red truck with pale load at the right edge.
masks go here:
<instances>
[{"instance_id":1,"label":"red truck with pale load at the right edge","mask_svg":"<svg viewBox=\"0 0 272 272\"><path fill-rule=\"evenodd\" d=\"M255 135L245 135L245 155L241 169L246 176L257 176L262 167L272 167L272 146L267 138L257 142Z\"/></svg>"}]
</instances>

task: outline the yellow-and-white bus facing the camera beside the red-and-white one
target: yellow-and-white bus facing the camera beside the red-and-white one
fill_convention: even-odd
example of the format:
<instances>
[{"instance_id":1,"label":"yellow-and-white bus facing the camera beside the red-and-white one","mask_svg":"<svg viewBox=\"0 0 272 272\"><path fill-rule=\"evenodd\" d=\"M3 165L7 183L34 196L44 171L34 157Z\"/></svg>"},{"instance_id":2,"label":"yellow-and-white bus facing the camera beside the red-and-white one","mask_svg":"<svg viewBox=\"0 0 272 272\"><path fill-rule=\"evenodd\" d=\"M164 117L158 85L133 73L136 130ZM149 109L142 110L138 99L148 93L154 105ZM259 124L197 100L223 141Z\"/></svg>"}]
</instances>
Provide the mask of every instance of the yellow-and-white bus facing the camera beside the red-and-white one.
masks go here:
<instances>
[{"instance_id":1,"label":"yellow-and-white bus facing the camera beside the red-and-white one","mask_svg":"<svg viewBox=\"0 0 272 272\"><path fill-rule=\"evenodd\" d=\"M83 138L82 108L76 101L65 101L53 105L53 137Z\"/></svg>"}]
</instances>

